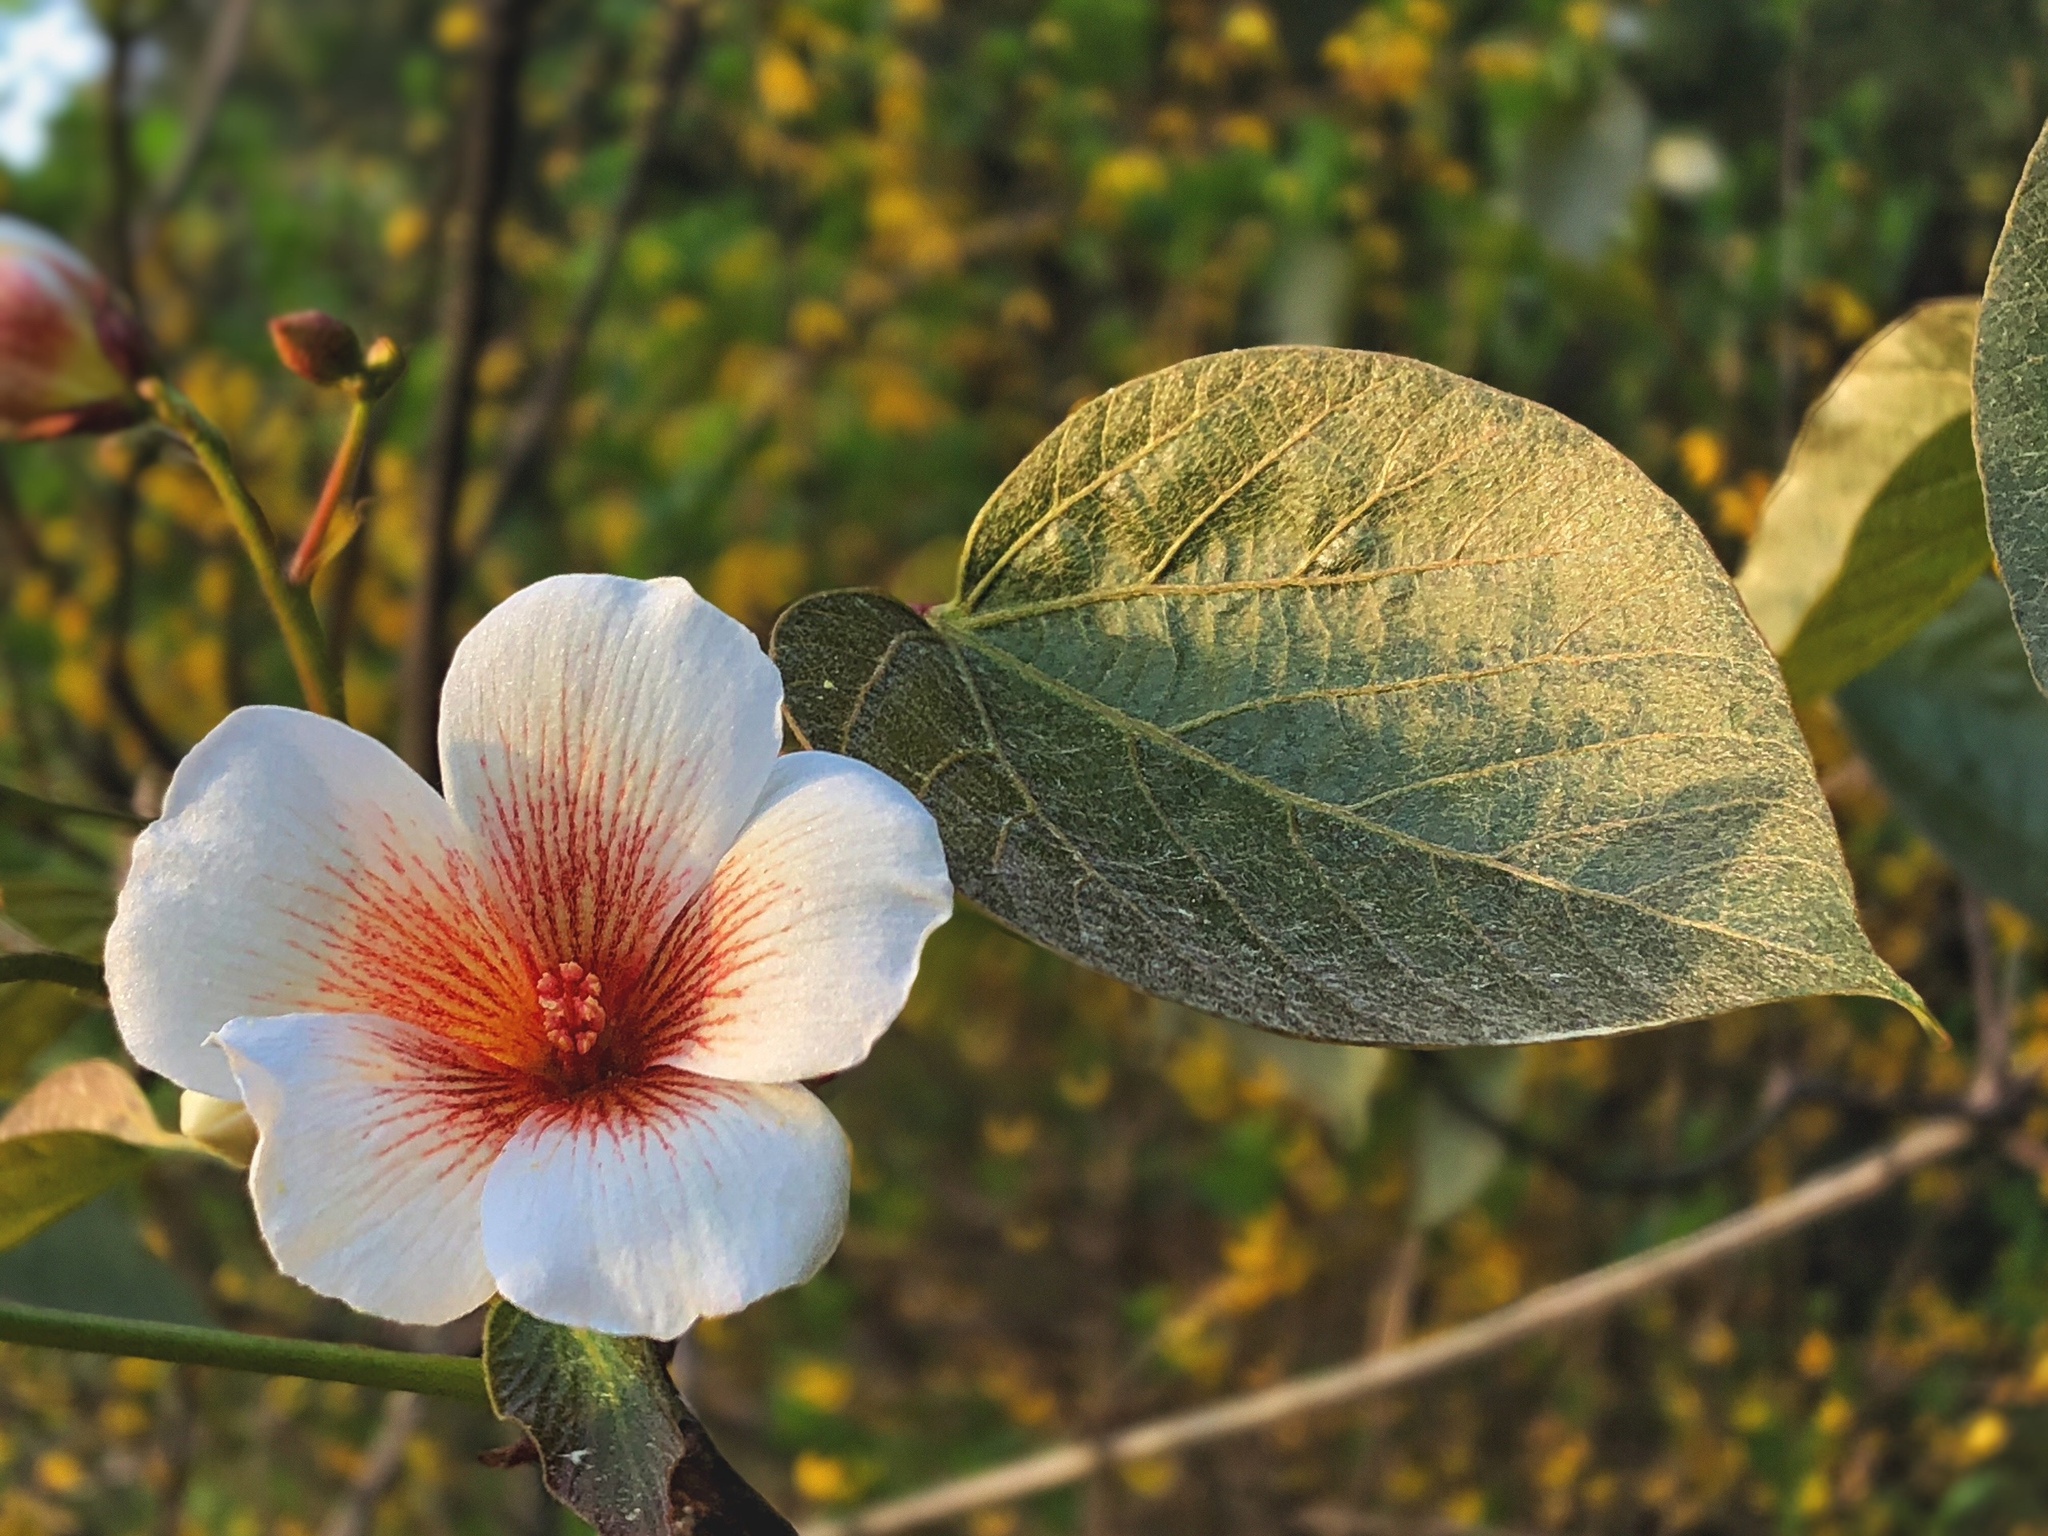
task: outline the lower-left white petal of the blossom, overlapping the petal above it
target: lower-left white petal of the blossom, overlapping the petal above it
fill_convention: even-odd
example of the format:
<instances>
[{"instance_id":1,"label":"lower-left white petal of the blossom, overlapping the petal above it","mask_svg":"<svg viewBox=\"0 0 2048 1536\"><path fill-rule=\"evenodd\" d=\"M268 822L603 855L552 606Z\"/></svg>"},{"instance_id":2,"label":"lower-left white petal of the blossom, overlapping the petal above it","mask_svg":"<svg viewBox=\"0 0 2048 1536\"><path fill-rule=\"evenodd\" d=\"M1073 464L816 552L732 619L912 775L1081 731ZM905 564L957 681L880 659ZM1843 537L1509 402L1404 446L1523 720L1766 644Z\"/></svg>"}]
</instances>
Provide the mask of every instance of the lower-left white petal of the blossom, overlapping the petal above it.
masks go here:
<instances>
[{"instance_id":1,"label":"lower-left white petal of the blossom, overlapping the petal above it","mask_svg":"<svg viewBox=\"0 0 2048 1536\"><path fill-rule=\"evenodd\" d=\"M219 1042L260 1133L250 1194L276 1268L399 1323L489 1298L483 1186L535 1108L526 1079L373 1014L238 1018Z\"/></svg>"}]
</instances>

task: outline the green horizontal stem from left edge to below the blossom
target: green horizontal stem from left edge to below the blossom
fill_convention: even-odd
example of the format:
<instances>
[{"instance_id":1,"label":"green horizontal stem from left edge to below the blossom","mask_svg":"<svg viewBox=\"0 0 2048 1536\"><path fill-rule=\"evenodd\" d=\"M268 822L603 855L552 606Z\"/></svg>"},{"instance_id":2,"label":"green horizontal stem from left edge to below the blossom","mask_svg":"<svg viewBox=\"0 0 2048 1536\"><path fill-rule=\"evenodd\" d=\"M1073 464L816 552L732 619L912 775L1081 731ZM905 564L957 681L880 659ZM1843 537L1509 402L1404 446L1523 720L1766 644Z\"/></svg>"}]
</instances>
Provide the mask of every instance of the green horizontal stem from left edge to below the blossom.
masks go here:
<instances>
[{"instance_id":1,"label":"green horizontal stem from left edge to below the blossom","mask_svg":"<svg viewBox=\"0 0 2048 1536\"><path fill-rule=\"evenodd\" d=\"M453 1397L489 1407L483 1366L459 1354L408 1354L373 1350L362 1343L315 1343L272 1339L262 1333L229 1333L219 1327L184 1323L143 1323L133 1317L61 1313L53 1307L0 1303L0 1343L33 1343L43 1350L82 1350L137 1360L170 1360L180 1366L219 1366L264 1376L307 1376L346 1380L391 1393Z\"/></svg>"}]
</instances>

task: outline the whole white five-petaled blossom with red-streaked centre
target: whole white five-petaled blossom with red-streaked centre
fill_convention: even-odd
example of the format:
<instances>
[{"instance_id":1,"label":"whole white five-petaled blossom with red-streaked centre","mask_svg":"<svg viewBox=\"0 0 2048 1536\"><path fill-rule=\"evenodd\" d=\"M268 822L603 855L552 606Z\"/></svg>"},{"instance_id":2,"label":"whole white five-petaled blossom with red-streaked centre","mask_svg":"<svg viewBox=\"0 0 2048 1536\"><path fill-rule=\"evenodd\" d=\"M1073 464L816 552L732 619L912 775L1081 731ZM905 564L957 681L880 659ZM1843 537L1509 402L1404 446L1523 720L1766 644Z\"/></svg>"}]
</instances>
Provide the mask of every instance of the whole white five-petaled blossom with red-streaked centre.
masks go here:
<instances>
[{"instance_id":1,"label":"whole white five-petaled blossom with red-streaked centre","mask_svg":"<svg viewBox=\"0 0 2048 1536\"><path fill-rule=\"evenodd\" d=\"M776 756L780 698L686 582L563 575L457 649L446 797L291 709L190 752L109 991L137 1061L248 1104L287 1274L672 1337L825 1262L848 1149L799 1083L868 1053L952 889L905 788Z\"/></svg>"}]
</instances>

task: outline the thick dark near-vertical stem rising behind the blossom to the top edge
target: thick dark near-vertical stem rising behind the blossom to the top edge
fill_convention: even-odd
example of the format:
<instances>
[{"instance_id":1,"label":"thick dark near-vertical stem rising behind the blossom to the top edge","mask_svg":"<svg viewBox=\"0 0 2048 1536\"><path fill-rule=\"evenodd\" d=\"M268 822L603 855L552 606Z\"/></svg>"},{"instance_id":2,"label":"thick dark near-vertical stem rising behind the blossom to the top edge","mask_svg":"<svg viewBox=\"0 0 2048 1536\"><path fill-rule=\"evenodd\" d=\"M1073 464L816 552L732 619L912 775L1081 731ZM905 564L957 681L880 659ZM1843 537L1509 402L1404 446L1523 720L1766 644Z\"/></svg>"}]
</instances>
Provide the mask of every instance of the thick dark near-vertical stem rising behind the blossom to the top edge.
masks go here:
<instances>
[{"instance_id":1,"label":"thick dark near-vertical stem rising behind the blossom to the top edge","mask_svg":"<svg viewBox=\"0 0 2048 1536\"><path fill-rule=\"evenodd\" d=\"M446 231L440 307L440 393L426 451L422 569L412 598L399 676L399 750L432 776L440 676L449 666L449 606L459 578L455 516L469 477L469 428L477 403L477 354L489 332L494 246L518 133L518 78L532 0L489 0L463 127L463 176Z\"/></svg>"}]
</instances>

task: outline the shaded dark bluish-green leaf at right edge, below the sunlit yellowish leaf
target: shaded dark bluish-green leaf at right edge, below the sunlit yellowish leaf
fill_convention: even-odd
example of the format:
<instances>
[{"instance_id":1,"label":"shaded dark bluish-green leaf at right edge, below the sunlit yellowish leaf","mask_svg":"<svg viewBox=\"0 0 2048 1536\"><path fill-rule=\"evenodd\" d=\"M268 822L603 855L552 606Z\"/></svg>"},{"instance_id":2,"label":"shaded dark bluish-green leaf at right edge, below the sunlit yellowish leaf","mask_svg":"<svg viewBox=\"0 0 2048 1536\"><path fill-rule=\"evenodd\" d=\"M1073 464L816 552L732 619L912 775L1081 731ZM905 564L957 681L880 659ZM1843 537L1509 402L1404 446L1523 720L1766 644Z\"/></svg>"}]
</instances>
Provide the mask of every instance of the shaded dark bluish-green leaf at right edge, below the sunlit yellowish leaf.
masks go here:
<instances>
[{"instance_id":1,"label":"shaded dark bluish-green leaf at right edge, below the sunlit yellowish leaf","mask_svg":"<svg viewBox=\"0 0 2048 1536\"><path fill-rule=\"evenodd\" d=\"M1835 705L1892 803L1976 889L2048 922L2048 698L1989 575Z\"/></svg>"}]
</instances>

